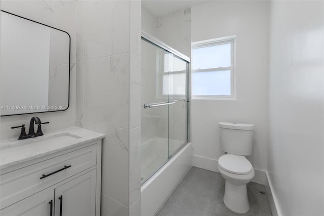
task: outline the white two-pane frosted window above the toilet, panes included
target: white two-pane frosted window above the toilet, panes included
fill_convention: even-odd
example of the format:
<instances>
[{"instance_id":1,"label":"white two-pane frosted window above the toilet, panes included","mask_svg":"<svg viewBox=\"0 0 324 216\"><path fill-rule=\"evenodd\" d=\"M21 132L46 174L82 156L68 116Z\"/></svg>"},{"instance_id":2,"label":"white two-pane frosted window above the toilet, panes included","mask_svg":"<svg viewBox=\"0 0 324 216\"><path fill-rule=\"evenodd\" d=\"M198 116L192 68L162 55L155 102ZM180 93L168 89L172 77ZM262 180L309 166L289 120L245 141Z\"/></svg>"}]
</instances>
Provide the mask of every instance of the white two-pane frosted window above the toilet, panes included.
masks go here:
<instances>
[{"instance_id":1,"label":"white two-pane frosted window above the toilet, panes included","mask_svg":"<svg viewBox=\"0 0 324 216\"><path fill-rule=\"evenodd\" d=\"M192 44L192 99L235 99L235 38Z\"/></svg>"}]
</instances>

